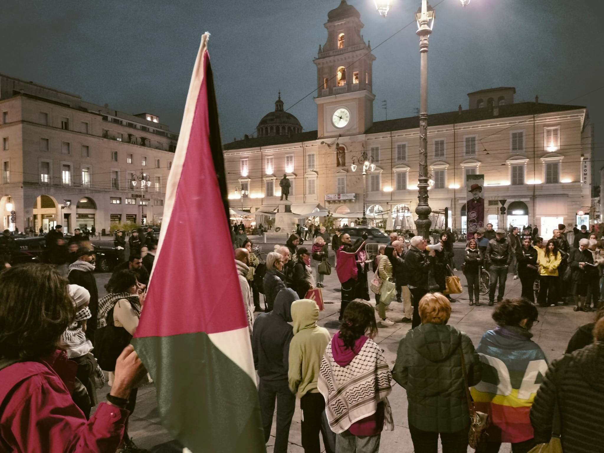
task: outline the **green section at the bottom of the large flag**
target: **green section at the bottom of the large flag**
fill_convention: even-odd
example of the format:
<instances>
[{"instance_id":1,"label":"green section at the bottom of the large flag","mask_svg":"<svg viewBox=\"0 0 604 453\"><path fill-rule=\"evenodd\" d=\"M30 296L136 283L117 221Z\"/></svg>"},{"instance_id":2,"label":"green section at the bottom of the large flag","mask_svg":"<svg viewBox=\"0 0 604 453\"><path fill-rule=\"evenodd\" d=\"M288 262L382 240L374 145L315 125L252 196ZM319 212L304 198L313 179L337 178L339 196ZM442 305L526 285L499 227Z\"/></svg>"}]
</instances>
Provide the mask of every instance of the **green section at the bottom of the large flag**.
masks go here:
<instances>
[{"instance_id":1,"label":"green section at the bottom of the large flag","mask_svg":"<svg viewBox=\"0 0 604 453\"><path fill-rule=\"evenodd\" d=\"M193 453L266 452L257 388L205 332L133 338L157 389L159 416Z\"/></svg>"}]
</instances>

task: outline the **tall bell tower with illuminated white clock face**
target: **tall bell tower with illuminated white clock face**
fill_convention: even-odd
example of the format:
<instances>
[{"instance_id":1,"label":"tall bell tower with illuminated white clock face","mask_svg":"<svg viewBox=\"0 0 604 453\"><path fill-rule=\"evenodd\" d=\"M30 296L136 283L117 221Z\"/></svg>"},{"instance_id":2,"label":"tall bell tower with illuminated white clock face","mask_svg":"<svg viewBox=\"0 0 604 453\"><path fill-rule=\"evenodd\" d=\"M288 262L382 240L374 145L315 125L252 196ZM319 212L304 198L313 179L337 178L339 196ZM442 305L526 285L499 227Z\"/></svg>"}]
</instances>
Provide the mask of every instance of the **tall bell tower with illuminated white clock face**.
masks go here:
<instances>
[{"instance_id":1,"label":"tall bell tower with illuminated white clock face","mask_svg":"<svg viewBox=\"0 0 604 453\"><path fill-rule=\"evenodd\" d=\"M361 36L361 14L342 0L327 13L327 42L314 60L318 138L359 135L373 124L371 64L376 57Z\"/></svg>"}]
</instances>

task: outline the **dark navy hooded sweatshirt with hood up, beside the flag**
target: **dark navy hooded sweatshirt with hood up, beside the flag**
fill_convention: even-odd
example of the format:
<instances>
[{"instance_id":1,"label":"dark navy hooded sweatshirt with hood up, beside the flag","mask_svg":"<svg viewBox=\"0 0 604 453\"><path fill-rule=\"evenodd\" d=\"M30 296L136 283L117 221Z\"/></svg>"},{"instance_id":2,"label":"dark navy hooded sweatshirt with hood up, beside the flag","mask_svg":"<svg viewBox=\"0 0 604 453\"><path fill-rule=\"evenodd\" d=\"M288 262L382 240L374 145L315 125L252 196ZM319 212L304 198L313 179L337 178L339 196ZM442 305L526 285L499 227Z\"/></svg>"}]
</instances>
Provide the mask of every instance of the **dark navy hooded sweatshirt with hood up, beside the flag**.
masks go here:
<instances>
[{"instance_id":1,"label":"dark navy hooded sweatshirt with hood up, beside the flag","mask_svg":"<svg viewBox=\"0 0 604 453\"><path fill-rule=\"evenodd\" d=\"M254 322L252 353L260 379L288 380L289 342L294 337L288 321L291 320L291 304L297 298L293 289L281 289L272 311L260 313Z\"/></svg>"}]
</instances>

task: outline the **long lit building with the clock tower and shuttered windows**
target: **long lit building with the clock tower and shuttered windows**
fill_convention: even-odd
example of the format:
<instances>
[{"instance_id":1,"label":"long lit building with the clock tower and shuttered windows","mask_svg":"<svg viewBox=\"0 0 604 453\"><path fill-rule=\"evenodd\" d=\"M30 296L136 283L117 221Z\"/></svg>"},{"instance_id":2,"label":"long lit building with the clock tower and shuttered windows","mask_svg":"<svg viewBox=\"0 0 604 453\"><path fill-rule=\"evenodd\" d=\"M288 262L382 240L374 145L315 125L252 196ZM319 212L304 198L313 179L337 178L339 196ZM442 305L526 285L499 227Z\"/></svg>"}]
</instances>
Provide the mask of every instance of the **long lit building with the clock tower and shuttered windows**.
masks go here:
<instances>
[{"instance_id":1,"label":"long lit building with the clock tower and shuttered windows","mask_svg":"<svg viewBox=\"0 0 604 453\"><path fill-rule=\"evenodd\" d=\"M373 121L375 57L361 36L360 14L342 1L325 27L327 42L314 60L317 129L225 144L232 206L277 210L285 174L289 201L300 205L298 220L326 208L350 225L365 210L370 222L413 230L419 117ZM513 87L472 92L467 109L429 114L429 204L441 212L432 214L433 228L444 226L448 208L448 225L465 229L471 174L484 175L485 223L530 223L547 236L558 223L585 222L577 212L589 213L591 205L594 133L587 109L537 97L516 103L514 94ZM374 165L365 175L364 157Z\"/></svg>"}]
</instances>

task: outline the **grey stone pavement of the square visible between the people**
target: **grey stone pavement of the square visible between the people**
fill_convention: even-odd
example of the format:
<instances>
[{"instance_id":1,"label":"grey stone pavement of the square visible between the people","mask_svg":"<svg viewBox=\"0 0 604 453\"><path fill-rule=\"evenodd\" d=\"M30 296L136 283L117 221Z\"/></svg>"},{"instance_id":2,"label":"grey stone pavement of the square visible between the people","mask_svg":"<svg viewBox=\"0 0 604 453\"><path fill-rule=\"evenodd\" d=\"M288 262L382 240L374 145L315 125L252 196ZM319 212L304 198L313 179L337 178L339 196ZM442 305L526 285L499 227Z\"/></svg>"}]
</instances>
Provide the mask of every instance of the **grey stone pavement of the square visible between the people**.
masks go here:
<instances>
[{"instance_id":1,"label":"grey stone pavement of the square visible between the people","mask_svg":"<svg viewBox=\"0 0 604 453\"><path fill-rule=\"evenodd\" d=\"M461 278L462 284L465 285L466 282L463 274L457 272L457 275ZM109 276L109 274L97 274L98 287L103 295L104 290L101 288ZM336 291L339 289L339 283L335 271L332 272L332 275L326 277L324 283L326 284L326 288L323 289L323 298L326 302L326 309L320 313L318 324L326 327L330 334L333 335L339 327L338 312L340 307L340 293ZM520 280L512 280L512 275L509 275L506 284L506 297L519 297L520 294ZM449 324L466 332L476 346L483 333L495 327L495 323L491 319L493 307L487 306L487 299L484 297L483 303L479 307L469 306L465 286L463 294L454 297L457 303L452 304ZM381 327L378 323L379 332L375 341L384 349L386 359L393 366L399 341L411 329L411 323L400 322L402 318L402 304L394 301L391 307L393 307L394 311L389 312L388 316L398 322L391 327ZM533 340L541 346L548 361L551 362L551 360L564 353L568 340L577 327L589 323L593 319L594 313L573 312L572 307L568 306L539 308L540 322L533 327ZM98 392L101 401L104 400L104 396L108 391L109 389L105 387ZM384 453L413 452L413 444L411 443L406 416L406 392L393 381L393 390L388 399L393 410L395 429L394 431L384 431L382 433L380 451ZM159 422L156 392L152 384L140 388L138 392L137 407L130 417L129 432L138 446L150 449L153 452L179 451L175 448L174 443L170 442L170 435L167 434ZM274 435L275 425L273 423L271 439L267 444L267 451L269 453L272 453ZM289 452L303 452L300 439L300 402L298 400L289 432ZM468 451L472 451L472 449ZM500 451L502 453L510 452L510 445L503 445Z\"/></svg>"}]
</instances>

